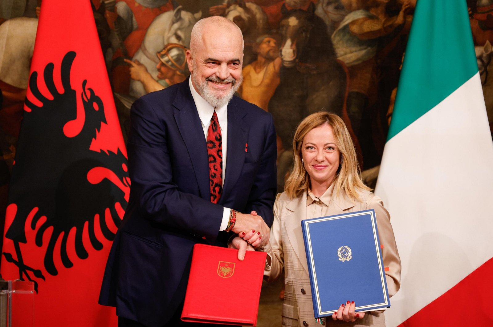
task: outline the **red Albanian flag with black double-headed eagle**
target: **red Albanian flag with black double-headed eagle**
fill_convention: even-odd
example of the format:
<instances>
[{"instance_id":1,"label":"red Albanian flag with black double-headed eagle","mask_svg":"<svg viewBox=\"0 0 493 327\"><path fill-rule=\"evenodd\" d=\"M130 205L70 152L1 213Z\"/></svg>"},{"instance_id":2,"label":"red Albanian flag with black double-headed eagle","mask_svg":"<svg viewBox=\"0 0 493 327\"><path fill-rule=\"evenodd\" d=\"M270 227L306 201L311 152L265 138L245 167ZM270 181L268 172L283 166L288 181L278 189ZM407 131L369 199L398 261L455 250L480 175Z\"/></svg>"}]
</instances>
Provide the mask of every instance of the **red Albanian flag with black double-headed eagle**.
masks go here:
<instances>
[{"instance_id":1,"label":"red Albanian flag with black double-headed eagle","mask_svg":"<svg viewBox=\"0 0 493 327\"><path fill-rule=\"evenodd\" d=\"M98 296L130 193L90 0L44 0L10 182L4 279L35 283L35 326L116 326Z\"/></svg>"}]
</instances>

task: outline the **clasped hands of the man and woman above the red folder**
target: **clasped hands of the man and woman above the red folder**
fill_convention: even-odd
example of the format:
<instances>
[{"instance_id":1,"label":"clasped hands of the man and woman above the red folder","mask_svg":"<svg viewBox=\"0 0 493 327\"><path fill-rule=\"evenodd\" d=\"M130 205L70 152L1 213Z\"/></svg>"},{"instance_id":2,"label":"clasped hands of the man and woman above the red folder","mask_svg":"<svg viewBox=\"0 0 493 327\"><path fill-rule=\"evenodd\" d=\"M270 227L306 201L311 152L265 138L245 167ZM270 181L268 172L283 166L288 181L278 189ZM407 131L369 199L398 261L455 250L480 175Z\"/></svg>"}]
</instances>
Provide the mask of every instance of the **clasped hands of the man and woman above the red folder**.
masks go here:
<instances>
[{"instance_id":1,"label":"clasped hands of the man and woman above the red folder","mask_svg":"<svg viewBox=\"0 0 493 327\"><path fill-rule=\"evenodd\" d=\"M229 242L228 247L238 249L238 260L240 261L245 258L246 251L255 251L269 242L269 226L255 211L249 215L237 213L236 223L232 230L238 236Z\"/></svg>"}]
</instances>

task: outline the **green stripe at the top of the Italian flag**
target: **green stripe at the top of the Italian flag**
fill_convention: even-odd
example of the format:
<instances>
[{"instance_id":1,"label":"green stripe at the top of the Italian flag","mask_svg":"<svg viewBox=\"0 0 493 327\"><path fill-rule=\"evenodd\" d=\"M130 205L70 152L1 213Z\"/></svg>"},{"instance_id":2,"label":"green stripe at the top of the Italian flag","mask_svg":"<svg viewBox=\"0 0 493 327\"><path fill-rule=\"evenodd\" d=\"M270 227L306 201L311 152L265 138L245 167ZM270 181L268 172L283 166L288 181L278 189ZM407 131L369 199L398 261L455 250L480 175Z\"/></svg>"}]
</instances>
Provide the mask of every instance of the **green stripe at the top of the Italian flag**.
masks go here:
<instances>
[{"instance_id":1,"label":"green stripe at the top of the Italian flag","mask_svg":"<svg viewBox=\"0 0 493 327\"><path fill-rule=\"evenodd\" d=\"M465 0L419 0L387 141L478 72Z\"/></svg>"}]
</instances>

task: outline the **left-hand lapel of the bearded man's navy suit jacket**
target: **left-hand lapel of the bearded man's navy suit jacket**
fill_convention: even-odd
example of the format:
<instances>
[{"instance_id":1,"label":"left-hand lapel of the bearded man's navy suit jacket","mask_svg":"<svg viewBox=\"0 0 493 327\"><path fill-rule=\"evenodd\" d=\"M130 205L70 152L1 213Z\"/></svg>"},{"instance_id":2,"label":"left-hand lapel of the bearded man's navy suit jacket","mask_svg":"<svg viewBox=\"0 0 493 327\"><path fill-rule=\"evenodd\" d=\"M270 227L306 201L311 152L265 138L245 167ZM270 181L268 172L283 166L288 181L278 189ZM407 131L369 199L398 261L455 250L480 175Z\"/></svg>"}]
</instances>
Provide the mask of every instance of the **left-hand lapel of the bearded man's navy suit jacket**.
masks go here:
<instances>
[{"instance_id":1,"label":"left-hand lapel of the bearded man's navy suit jacket","mask_svg":"<svg viewBox=\"0 0 493 327\"><path fill-rule=\"evenodd\" d=\"M174 114L176 125L190 156L200 196L203 199L211 200L206 139L197 107L190 92L188 79L180 83L173 105L176 108Z\"/></svg>"}]
</instances>

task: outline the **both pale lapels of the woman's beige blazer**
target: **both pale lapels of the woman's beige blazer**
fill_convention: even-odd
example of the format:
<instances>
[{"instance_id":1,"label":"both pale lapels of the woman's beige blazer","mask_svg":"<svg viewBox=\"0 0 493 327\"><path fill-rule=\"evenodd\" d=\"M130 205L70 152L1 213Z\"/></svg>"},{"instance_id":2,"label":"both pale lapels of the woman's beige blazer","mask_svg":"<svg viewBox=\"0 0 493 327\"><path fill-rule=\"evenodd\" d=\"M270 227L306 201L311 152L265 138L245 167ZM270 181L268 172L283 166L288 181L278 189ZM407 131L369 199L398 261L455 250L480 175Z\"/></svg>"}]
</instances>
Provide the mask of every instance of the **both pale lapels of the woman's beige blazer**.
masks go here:
<instances>
[{"instance_id":1,"label":"both pale lapels of the woman's beige blazer","mask_svg":"<svg viewBox=\"0 0 493 327\"><path fill-rule=\"evenodd\" d=\"M337 196L334 191L327 212L329 216L338 215L344 213L345 210L348 210L353 206L354 203L349 199L344 191L341 192L340 196ZM290 200L286 204L286 209L288 210L287 215L292 215L292 217L286 216L284 218L287 237L293 247L294 252L296 253L296 256L308 274L309 271L305 241L303 238L303 231L301 229L301 221L307 219L307 193L304 192L302 196Z\"/></svg>"}]
</instances>

